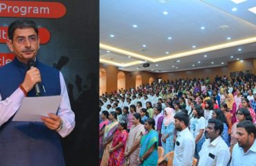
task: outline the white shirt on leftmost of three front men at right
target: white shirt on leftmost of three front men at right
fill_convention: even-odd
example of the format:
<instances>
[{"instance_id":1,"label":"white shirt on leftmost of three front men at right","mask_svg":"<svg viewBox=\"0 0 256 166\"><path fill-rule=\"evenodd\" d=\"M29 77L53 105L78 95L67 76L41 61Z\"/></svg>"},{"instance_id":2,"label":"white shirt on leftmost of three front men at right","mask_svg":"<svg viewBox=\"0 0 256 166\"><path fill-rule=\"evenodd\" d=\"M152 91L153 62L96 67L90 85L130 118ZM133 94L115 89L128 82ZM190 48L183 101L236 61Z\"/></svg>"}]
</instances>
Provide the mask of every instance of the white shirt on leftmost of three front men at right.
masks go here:
<instances>
[{"instance_id":1,"label":"white shirt on leftmost of three front men at right","mask_svg":"<svg viewBox=\"0 0 256 166\"><path fill-rule=\"evenodd\" d=\"M174 166L191 166L193 164L195 142L187 128L179 132L174 147Z\"/></svg>"}]
</instances>

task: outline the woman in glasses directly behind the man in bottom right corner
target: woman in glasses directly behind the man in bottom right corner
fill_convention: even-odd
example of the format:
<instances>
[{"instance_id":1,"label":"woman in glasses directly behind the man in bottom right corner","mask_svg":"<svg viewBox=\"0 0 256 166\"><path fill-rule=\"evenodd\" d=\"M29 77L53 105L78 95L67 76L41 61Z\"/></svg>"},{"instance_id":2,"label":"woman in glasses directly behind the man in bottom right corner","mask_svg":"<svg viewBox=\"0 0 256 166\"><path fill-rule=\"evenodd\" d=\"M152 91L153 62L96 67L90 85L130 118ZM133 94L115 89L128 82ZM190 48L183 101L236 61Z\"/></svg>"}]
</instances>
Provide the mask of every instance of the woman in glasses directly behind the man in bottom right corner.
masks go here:
<instances>
[{"instance_id":1,"label":"woman in glasses directly behind the man in bottom right corner","mask_svg":"<svg viewBox=\"0 0 256 166\"><path fill-rule=\"evenodd\" d=\"M253 122L253 118L250 116L250 112L248 109L240 108L236 113L238 122L235 122L231 129L231 141L230 141L230 154L232 154L232 149L234 145L237 143L237 124L239 122L243 122L244 120L250 120Z\"/></svg>"}]
</instances>

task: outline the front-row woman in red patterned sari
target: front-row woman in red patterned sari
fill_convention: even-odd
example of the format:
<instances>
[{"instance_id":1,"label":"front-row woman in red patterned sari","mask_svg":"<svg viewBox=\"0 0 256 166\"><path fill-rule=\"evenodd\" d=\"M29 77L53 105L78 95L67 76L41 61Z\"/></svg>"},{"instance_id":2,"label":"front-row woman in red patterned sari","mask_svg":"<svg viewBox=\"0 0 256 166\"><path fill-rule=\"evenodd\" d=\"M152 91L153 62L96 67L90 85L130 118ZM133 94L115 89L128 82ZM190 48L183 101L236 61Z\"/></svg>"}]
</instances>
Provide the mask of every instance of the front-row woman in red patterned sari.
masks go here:
<instances>
[{"instance_id":1,"label":"front-row woman in red patterned sari","mask_svg":"<svg viewBox=\"0 0 256 166\"><path fill-rule=\"evenodd\" d=\"M127 124L118 123L118 129L113 134L111 149L109 149L109 166L122 166L125 164L125 145L128 138Z\"/></svg>"}]
</instances>

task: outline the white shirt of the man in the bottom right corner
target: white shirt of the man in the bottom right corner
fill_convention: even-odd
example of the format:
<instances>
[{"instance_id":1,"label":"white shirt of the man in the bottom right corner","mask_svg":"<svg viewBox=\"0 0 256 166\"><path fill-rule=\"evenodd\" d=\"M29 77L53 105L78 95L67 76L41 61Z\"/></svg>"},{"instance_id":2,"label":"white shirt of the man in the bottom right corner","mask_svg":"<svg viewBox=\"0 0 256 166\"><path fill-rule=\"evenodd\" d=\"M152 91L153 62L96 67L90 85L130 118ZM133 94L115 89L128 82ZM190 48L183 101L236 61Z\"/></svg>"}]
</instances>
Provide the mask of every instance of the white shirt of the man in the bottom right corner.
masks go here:
<instances>
[{"instance_id":1,"label":"white shirt of the man in the bottom right corner","mask_svg":"<svg viewBox=\"0 0 256 166\"><path fill-rule=\"evenodd\" d=\"M232 151L230 166L256 166L256 140L253 145L244 153L244 149L236 144Z\"/></svg>"}]
</instances>

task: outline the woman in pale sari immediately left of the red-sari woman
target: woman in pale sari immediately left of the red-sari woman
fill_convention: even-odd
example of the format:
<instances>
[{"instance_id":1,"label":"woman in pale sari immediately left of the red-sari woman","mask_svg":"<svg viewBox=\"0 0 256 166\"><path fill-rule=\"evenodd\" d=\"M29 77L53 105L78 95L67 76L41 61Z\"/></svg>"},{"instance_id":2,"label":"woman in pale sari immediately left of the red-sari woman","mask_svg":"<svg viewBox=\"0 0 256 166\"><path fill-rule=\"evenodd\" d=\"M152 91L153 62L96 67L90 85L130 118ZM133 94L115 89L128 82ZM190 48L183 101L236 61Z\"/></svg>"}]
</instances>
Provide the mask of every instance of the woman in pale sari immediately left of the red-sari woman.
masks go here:
<instances>
[{"instance_id":1,"label":"woman in pale sari immediately left of the red-sari woman","mask_svg":"<svg viewBox=\"0 0 256 166\"><path fill-rule=\"evenodd\" d=\"M104 135L103 135L103 142L102 142L102 145L104 146L104 153L102 156L100 166L109 165L109 149L111 149L113 134L116 132L118 128L116 111L112 111L109 114L109 120L111 120L111 123L104 128Z\"/></svg>"}]
</instances>

